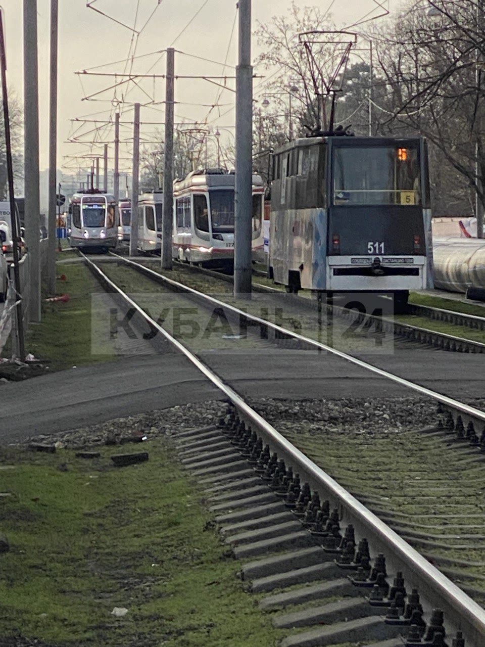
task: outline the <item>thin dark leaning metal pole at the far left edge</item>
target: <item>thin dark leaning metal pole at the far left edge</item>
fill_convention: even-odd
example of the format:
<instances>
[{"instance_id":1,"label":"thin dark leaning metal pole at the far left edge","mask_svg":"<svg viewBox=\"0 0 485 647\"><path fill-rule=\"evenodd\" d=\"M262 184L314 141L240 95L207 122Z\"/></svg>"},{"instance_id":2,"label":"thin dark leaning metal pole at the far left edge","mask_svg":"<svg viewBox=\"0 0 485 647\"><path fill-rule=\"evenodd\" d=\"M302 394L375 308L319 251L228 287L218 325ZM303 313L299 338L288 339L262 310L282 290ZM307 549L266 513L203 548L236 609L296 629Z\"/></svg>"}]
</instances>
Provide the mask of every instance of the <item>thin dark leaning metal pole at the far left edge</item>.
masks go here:
<instances>
[{"instance_id":1,"label":"thin dark leaning metal pole at the far left edge","mask_svg":"<svg viewBox=\"0 0 485 647\"><path fill-rule=\"evenodd\" d=\"M19 343L19 359L25 359L25 337L23 329L22 298L19 270L19 234L17 232L16 204L14 196L14 170L12 165L12 147L10 145L10 118L8 116L8 87L6 85L6 53L5 36L3 33L3 9L0 8L0 60L2 77L3 120L5 127L6 170L8 175L8 197L10 199L10 214L12 221L12 238L14 241L14 280L16 288L17 336Z\"/></svg>"}]
</instances>

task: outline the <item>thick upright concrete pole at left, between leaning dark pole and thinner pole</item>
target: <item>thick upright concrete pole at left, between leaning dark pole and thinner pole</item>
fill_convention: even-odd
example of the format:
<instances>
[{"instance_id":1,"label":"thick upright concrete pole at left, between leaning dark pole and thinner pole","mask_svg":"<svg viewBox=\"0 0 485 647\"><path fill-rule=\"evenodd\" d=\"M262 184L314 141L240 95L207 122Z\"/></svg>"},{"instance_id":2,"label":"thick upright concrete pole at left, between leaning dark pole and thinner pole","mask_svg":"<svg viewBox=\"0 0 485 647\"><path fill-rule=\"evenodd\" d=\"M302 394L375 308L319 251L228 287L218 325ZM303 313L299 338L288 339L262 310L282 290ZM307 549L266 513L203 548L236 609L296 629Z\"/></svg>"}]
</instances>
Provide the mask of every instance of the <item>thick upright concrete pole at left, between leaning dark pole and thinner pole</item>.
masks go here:
<instances>
[{"instance_id":1,"label":"thick upright concrete pole at left, between leaning dark pole and thinner pole","mask_svg":"<svg viewBox=\"0 0 485 647\"><path fill-rule=\"evenodd\" d=\"M37 43L37 0L23 0L25 244L30 258L28 318L31 322L41 320Z\"/></svg>"}]
</instances>

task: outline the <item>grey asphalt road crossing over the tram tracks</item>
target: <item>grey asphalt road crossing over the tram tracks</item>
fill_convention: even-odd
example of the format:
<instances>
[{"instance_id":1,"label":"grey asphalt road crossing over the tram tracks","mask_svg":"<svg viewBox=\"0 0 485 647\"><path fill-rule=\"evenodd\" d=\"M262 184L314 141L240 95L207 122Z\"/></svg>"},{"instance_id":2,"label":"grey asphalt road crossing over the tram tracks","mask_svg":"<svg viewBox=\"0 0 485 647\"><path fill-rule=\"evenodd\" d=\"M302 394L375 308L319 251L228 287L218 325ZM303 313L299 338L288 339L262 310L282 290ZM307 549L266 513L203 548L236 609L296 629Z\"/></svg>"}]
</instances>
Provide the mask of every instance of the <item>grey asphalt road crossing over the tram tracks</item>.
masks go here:
<instances>
[{"instance_id":1,"label":"grey asphalt road crossing over the tram tracks","mask_svg":"<svg viewBox=\"0 0 485 647\"><path fill-rule=\"evenodd\" d=\"M409 391L333 355L266 349L205 353L242 395L285 399L394 398ZM365 359L365 358L363 358ZM368 357L389 368L389 356ZM485 394L485 356L416 349L396 351L394 373L457 399ZM186 358L171 352L69 369L25 382L0 383L0 442L67 431L177 404L218 399Z\"/></svg>"}]
</instances>

